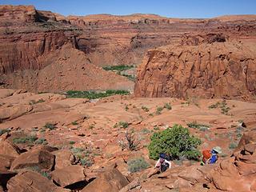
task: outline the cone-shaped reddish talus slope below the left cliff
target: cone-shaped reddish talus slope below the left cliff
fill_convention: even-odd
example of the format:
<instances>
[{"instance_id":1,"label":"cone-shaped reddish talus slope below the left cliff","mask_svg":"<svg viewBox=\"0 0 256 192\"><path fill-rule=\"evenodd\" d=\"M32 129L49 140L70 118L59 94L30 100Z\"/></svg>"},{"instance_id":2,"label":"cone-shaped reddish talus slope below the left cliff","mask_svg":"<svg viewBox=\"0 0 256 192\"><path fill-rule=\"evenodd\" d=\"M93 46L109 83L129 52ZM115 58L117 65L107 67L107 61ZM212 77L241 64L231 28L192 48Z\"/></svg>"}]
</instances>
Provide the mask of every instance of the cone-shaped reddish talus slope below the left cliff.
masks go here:
<instances>
[{"instance_id":1,"label":"cone-shaped reddish talus slope below the left cliff","mask_svg":"<svg viewBox=\"0 0 256 192\"><path fill-rule=\"evenodd\" d=\"M4 82L5 87L38 92L133 89L134 82L94 66L82 51L74 49L70 44L47 56L51 62L41 70L18 70L2 74L0 82Z\"/></svg>"}]
</instances>

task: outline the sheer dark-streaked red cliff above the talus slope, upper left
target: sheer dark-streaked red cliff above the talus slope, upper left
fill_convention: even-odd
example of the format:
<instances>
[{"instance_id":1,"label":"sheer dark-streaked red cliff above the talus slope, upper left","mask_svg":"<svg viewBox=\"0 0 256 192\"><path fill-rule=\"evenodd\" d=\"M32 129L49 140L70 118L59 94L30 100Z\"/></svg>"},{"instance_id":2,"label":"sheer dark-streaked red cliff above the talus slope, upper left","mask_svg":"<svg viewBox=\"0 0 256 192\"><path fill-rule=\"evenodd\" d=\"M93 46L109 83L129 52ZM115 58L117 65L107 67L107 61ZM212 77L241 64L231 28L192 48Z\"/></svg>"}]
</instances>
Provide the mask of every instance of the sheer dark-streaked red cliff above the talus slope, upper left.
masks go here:
<instances>
[{"instance_id":1,"label":"sheer dark-streaked red cliff above the talus slope, upper left","mask_svg":"<svg viewBox=\"0 0 256 192\"><path fill-rule=\"evenodd\" d=\"M0 74L42 69L50 52L72 42L72 26L47 19L34 6L0 6Z\"/></svg>"}]
</instances>

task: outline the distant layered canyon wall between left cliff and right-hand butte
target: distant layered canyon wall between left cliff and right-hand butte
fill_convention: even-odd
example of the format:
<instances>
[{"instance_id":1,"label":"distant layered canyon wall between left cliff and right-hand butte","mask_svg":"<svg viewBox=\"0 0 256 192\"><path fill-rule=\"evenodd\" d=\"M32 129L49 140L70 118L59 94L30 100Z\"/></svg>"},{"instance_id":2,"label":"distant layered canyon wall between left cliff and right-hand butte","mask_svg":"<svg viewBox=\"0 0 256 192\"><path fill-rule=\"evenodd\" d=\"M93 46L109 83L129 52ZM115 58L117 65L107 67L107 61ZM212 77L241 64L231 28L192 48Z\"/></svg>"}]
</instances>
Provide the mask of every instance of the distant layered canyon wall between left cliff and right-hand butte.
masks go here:
<instances>
[{"instance_id":1,"label":"distant layered canyon wall between left cliff and right-hand butte","mask_svg":"<svg viewBox=\"0 0 256 192\"><path fill-rule=\"evenodd\" d=\"M178 19L154 14L100 14L70 16L67 20L84 31L77 38L78 47L98 66L137 65L146 50L174 44L187 35L222 33L234 39L256 36L255 15Z\"/></svg>"}]
</instances>

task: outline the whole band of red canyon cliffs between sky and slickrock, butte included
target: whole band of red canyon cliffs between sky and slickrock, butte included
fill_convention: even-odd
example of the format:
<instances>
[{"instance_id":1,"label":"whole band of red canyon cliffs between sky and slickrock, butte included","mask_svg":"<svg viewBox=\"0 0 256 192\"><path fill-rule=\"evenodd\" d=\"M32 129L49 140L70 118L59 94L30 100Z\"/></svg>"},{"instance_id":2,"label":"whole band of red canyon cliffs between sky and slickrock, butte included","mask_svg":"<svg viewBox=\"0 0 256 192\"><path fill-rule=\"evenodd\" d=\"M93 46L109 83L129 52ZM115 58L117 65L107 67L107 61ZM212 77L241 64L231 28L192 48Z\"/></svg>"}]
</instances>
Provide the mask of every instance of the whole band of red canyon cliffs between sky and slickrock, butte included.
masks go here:
<instances>
[{"instance_id":1,"label":"whole band of red canyon cliffs between sky and slickrock, butte included","mask_svg":"<svg viewBox=\"0 0 256 192\"><path fill-rule=\"evenodd\" d=\"M0 86L31 91L66 90L71 89L72 86L87 90L113 88L110 84L120 80L127 85L124 87L130 89L131 84L128 80L125 81L113 73L105 73L105 71L99 71L100 68L97 70L91 66L138 66L142 63L138 70L138 82L135 87L135 94L139 97L186 98L194 95L195 90L203 90L202 94L207 98L248 98L254 94L254 57L250 56L250 51L254 51L250 49L254 46L250 46L247 52L247 50L239 50L240 48L235 50L234 47L237 46L230 42L237 41L237 44L241 42L242 47L244 44L254 45L255 37L255 15L222 16L211 19L164 18L154 14L64 17L50 11L36 10L34 6L0 6ZM228 46L219 47L221 43ZM169 48L158 49L159 46ZM63 59L60 57L63 47L65 50L66 47L70 47L70 54L76 52L74 49L82 51L83 53L79 52L79 54L84 54L82 56L84 60L78 58L76 61L74 57L74 61L69 60L66 69L60 74L43 72L55 68L59 70L59 61ZM209 55L204 49L209 49L211 53L216 54L216 57L221 54L228 56L225 56L223 61L222 58L211 58L212 54ZM230 60L226 58L230 57L230 49L242 51L246 60L232 59L232 62L234 60L236 63L235 68L238 68L232 73L239 72L239 75L237 77L225 72L223 76L225 78L226 75L229 76L224 80L225 78L221 75L222 70L231 70L229 67L233 67L229 64ZM147 50L150 50L148 54L146 54ZM182 53L181 56L176 55L177 51ZM199 52L204 55L202 60L198 60ZM171 56L174 53L176 53L175 56ZM145 54L147 56L142 62ZM187 61L183 58L186 54ZM180 64L182 62L184 63ZM190 63L189 66L187 63ZM214 63L214 65L218 63L218 67L208 63ZM54 67L54 65L57 66ZM81 74L81 78L85 81L83 84L80 85L79 81L75 81L74 74L78 69L68 65L85 67L86 73ZM154 69L156 65L162 69L158 73ZM241 74L241 70L245 70L244 67L247 74ZM72 70L73 80L63 81L60 77L69 77L70 70ZM97 80L95 86L92 86L93 78L95 80L98 78L97 73L94 74L92 71L98 71L102 79L109 84L105 85ZM58 74L56 78L58 80L51 85L46 79L53 79L55 74ZM89 77L91 74L94 76ZM182 74L182 80L179 78L175 78L175 81L171 80L179 74ZM114 78L113 81L108 77ZM226 84L230 84L230 81L238 81L239 87L235 85L236 83L234 87L227 86ZM101 84L105 86L101 87ZM229 87L227 90L231 94L226 93L226 87Z\"/></svg>"}]
</instances>

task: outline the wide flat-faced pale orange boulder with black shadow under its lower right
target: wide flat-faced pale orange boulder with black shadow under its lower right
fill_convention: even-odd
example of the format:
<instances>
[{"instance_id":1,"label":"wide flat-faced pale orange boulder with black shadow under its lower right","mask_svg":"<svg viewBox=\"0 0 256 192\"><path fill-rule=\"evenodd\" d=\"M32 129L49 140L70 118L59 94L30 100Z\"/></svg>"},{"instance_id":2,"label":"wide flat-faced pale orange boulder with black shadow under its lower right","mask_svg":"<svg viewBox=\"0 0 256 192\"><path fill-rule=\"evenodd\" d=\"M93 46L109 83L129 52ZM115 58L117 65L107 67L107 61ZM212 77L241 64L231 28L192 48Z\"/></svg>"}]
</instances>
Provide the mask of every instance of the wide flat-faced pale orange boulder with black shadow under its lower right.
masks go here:
<instances>
[{"instance_id":1,"label":"wide flat-faced pale orange boulder with black shadow under its lower right","mask_svg":"<svg viewBox=\"0 0 256 192\"><path fill-rule=\"evenodd\" d=\"M86 180L82 166L66 166L62 169L54 170L51 176L55 183L67 188L72 184Z\"/></svg>"}]
</instances>

